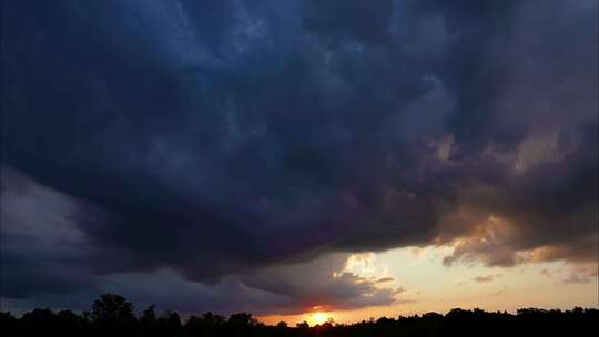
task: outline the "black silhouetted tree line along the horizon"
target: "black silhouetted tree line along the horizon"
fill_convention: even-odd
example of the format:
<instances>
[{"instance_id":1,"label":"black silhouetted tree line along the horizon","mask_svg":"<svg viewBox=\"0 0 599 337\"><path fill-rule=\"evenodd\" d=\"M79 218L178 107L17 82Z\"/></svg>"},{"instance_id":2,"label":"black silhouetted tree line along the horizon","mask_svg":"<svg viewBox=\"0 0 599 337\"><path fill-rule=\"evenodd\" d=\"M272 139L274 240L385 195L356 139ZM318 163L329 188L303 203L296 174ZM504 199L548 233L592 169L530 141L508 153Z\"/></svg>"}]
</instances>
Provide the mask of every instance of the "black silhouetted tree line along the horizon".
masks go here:
<instances>
[{"instance_id":1,"label":"black silhouetted tree line along the horizon","mask_svg":"<svg viewBox=\"0 0 599 337\"><path fill-rule=\"evenodd\" d=\"M192 315L185 321L175 312L156 315L149 306L141 315L134 314L133 305L124 297L104 294L90 312L53 312L32 309L20 318L0 312L0 334L18 336L140 336L140 337L192 337L192 336L580 336L596 334L599 310L576 307L560 309L518 309L517 314L489 313L481 309L455 308L447 314L427 313L397 318L382 317L351 325L327 321L308 326L300 323L288 326L265 325L247 313L229 317L205 313Z\"/></svg>"}]
</instances>

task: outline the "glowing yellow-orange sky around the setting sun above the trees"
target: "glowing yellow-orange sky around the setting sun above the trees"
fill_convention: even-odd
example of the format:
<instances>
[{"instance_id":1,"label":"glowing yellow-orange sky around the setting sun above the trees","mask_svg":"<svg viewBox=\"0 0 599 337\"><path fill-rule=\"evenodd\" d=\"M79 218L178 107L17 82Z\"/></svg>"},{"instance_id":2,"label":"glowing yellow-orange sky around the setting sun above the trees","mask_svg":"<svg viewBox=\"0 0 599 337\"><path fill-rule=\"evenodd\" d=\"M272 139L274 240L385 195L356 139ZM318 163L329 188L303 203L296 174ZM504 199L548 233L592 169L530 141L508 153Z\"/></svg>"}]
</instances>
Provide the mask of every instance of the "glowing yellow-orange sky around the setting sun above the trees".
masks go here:
<instances>
[{"instance_id":1,"label":"glowing yellow-orange sky around the setting sun above the trees","mask_svg":"<svg viewBox=\"0 0 599 337\"><path fill-rule=\"evenodd\" d=\"M382 316L397 317L451 308L516 312L524 307L570 309L599 307L597 265L566 262L526 263L512 267L481 264L443 265L451 252L447 246L398 248L384 253L354 254L343 272L367 279L386 279L377 287L399 289L393 305L324 312L315 307L297 315L263 315L258 320L311 325L332 318L354 323ZM332 276L334 277L334 276ZM326 304L314 304L326 307Z\"/></svg>"}]
</instances>

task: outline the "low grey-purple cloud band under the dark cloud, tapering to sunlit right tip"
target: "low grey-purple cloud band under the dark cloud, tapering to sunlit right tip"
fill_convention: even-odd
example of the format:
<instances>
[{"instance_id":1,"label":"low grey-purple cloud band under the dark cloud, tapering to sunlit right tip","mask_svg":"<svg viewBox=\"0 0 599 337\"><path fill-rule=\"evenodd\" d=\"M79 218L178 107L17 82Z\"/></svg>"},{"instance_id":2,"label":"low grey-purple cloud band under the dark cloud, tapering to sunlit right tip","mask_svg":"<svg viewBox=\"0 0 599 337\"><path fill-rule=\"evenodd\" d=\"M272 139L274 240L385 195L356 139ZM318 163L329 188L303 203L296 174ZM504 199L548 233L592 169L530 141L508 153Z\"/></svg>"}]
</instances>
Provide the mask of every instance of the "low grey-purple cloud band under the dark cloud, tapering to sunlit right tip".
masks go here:
<instances>
[{"instance_id":1,"label":"low grey-purple cloud band under the dark cloud, tapering to sunlit right tip","mask_svg":"<svg viewBox=\"0 0 599 337\"><path fill-rule=\"evenodd\" d=\"M245 273L240 269L240 274L213 283L187 279L172 268L128 272L119 264L105 274L104 266L98 269L90 261L126 257L106 247L98 249L78 229L72 213L79 201L10 168L3 167L2 176L10 182L2 186L2 263L11 270L2 276L2 296L12 307L61 307L67 300L83 310L97 296L110 292L138 306L155 304L185 314L298 314L316 304L336 309L388 305L402 293L402 288L378 287L376 280L343 272L349 254Z\"/></svg>"}]
</instances>

